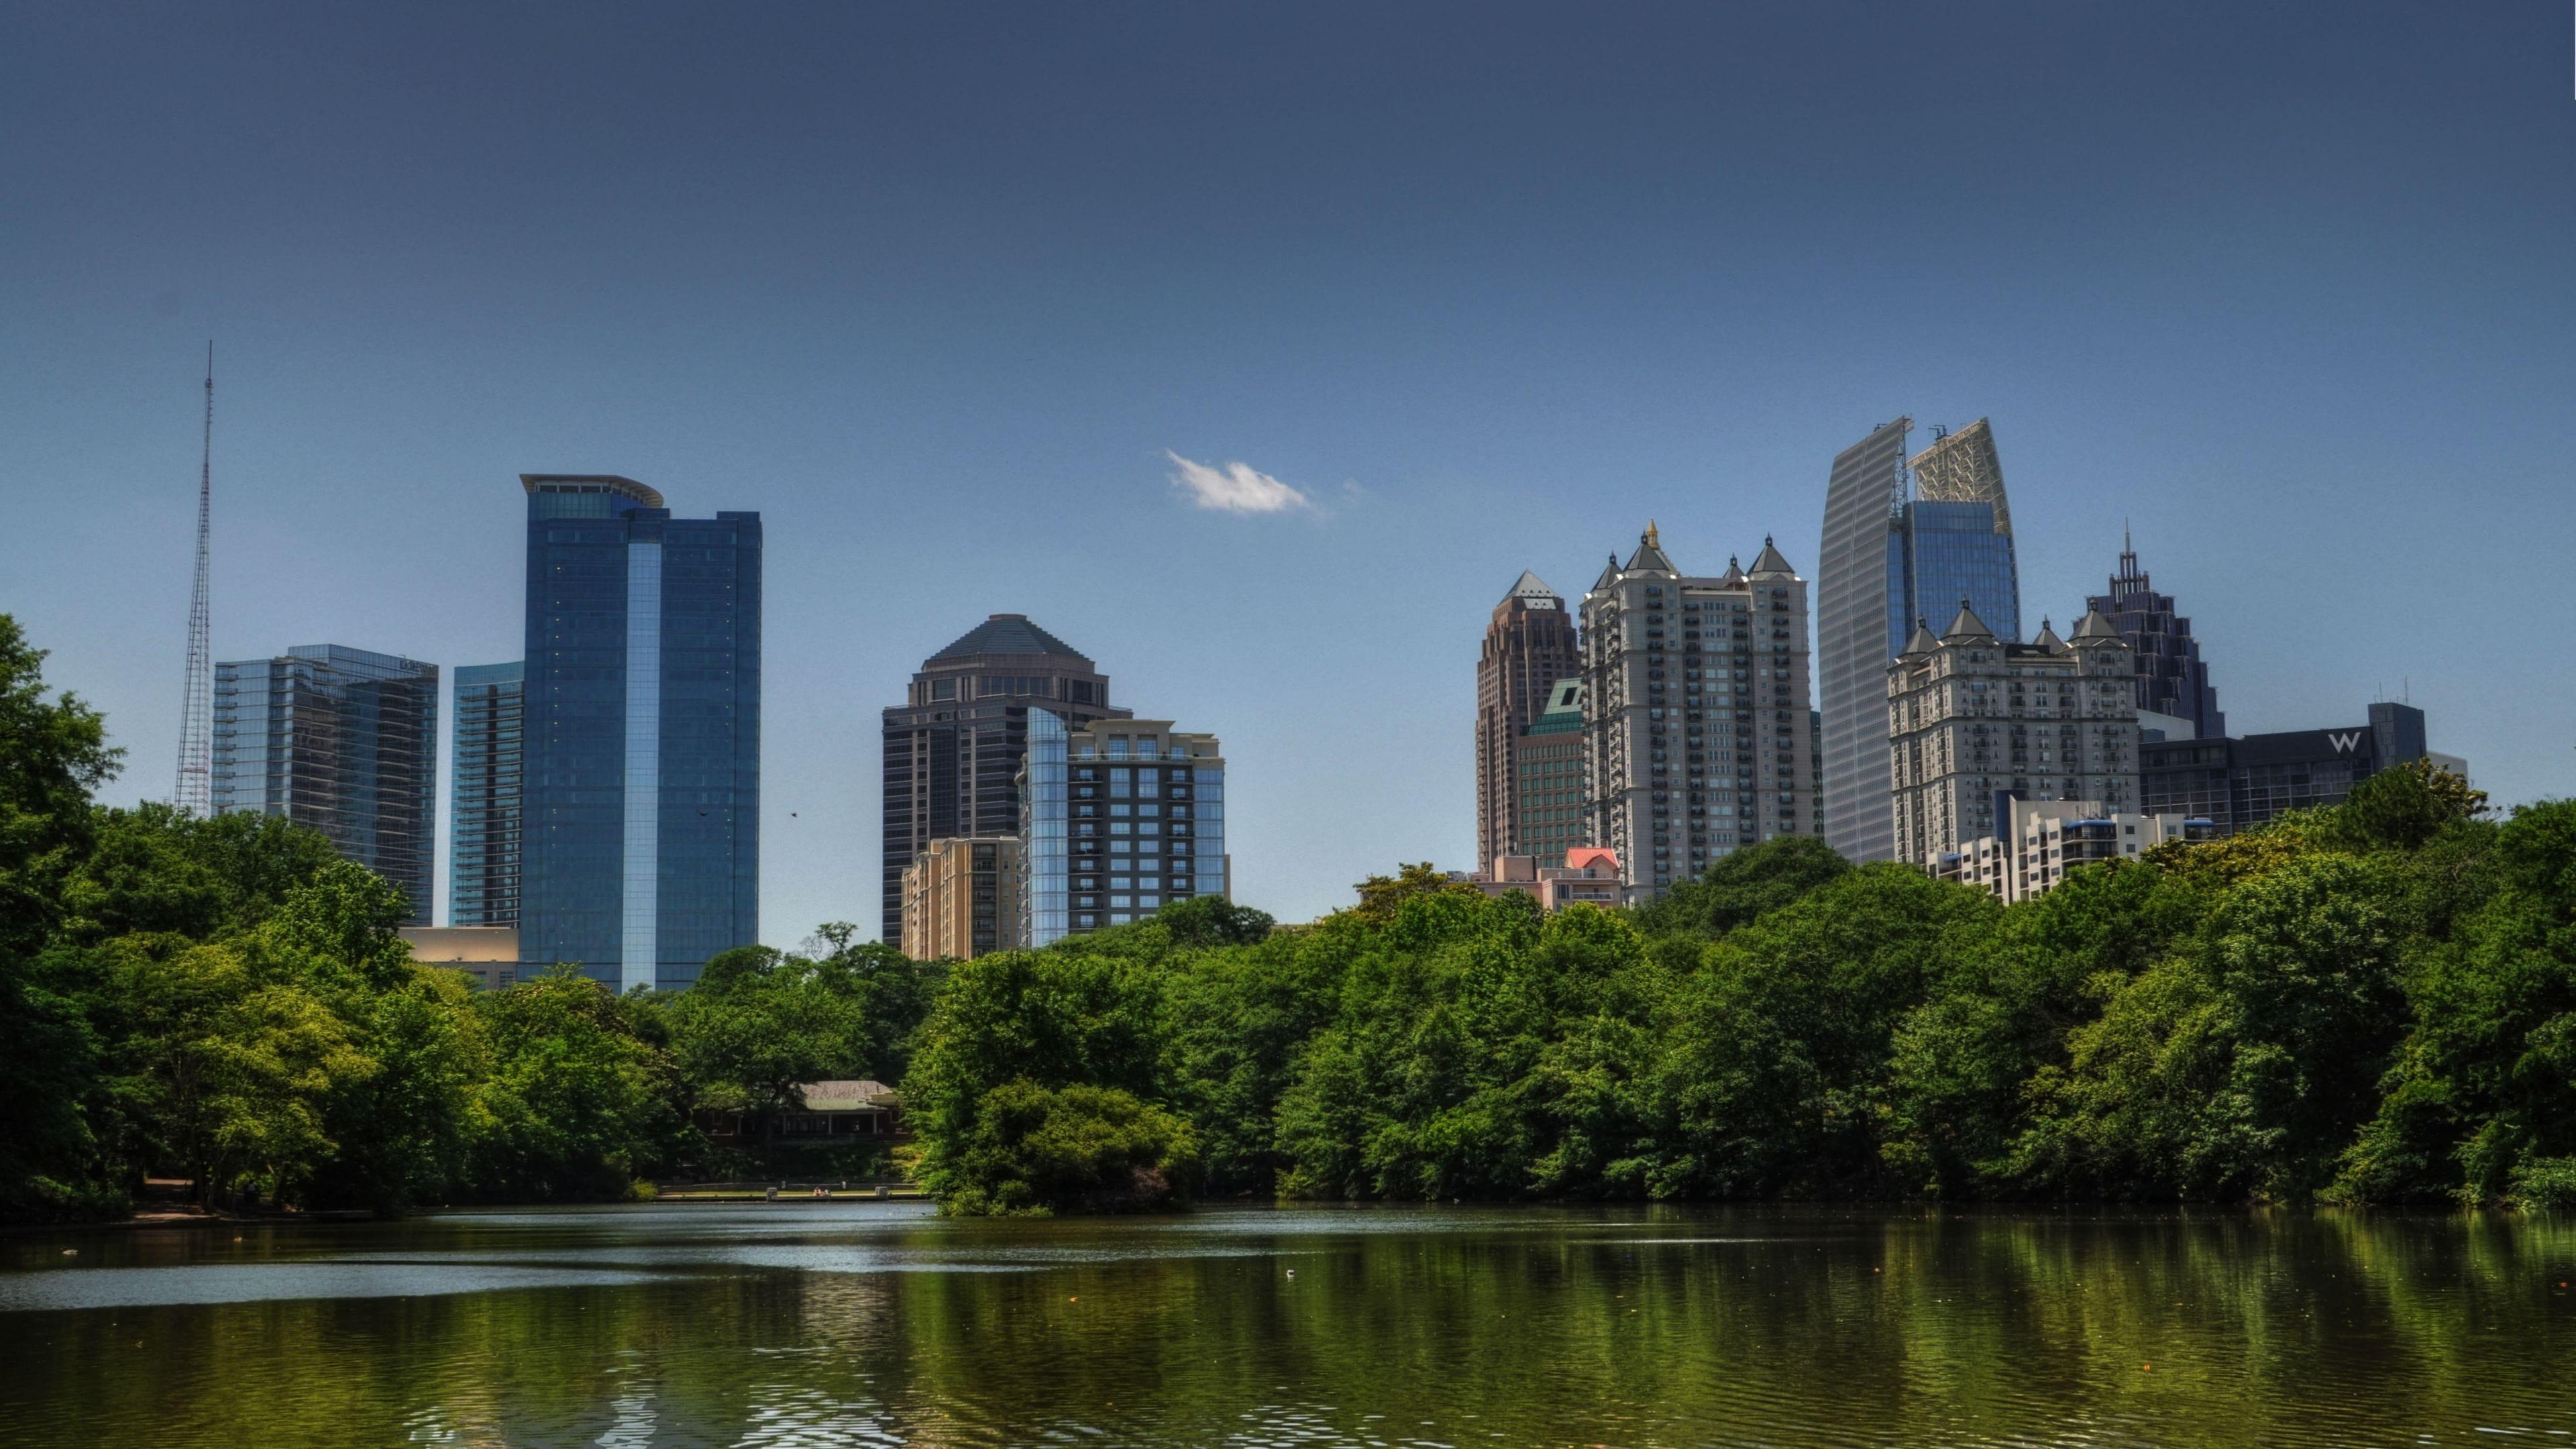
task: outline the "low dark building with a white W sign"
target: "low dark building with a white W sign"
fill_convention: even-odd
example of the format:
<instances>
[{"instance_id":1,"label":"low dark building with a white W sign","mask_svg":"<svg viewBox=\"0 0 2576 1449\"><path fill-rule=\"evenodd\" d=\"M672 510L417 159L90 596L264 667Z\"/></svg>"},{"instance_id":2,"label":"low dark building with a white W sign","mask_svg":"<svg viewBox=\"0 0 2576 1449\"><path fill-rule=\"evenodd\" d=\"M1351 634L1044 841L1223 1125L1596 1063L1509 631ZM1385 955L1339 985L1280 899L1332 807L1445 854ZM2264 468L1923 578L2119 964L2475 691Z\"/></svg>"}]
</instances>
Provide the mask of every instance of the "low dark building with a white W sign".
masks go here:
<instances>
[{"instance_id":1,"label":"low dark building with a white W sign","mask_svg":"<svg viewBox=\"0 0 2576 1449\"><path fill-rule=\"evenodd\" d=\"M2372 704L2367 724L2285 730L2241 740L2148 740L2138 748L2146 810L2215 822L2221 835L2251 830L2290 810L2342 804L2352 786L2406 761L2432 758L2468 779L2458 755L2424 748L2424 712Z\"/></svg>"}]
</instances>

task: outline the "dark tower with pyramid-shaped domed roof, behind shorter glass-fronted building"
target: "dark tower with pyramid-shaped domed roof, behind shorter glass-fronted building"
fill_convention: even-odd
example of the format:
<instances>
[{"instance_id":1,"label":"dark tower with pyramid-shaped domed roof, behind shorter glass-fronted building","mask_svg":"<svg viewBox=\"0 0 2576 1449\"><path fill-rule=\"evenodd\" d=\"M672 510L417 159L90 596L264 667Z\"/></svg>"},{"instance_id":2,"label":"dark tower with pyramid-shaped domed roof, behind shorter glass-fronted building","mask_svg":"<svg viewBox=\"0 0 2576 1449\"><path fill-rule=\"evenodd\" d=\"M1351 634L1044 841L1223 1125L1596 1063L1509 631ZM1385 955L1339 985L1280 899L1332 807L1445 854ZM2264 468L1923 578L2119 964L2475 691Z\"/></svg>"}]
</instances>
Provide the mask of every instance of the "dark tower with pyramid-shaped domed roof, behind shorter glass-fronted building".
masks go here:
<instances>
[{"instance_id":1,"label":"dark tower with pyramid-shaped domed roof, behind shorter glass-fronted building","mask_svg":"<svg viewBox=\"0 0 2576 1449\"><path fill-rule=\"evenodd\" d=\"M922 660L886 709L884 941L904 938L904 866L930 841L1020 833L1030 706L1069 727L1128 717L1110 709L1110 678L1025 614L994 614Z\"/></svg>"}]
</instances>

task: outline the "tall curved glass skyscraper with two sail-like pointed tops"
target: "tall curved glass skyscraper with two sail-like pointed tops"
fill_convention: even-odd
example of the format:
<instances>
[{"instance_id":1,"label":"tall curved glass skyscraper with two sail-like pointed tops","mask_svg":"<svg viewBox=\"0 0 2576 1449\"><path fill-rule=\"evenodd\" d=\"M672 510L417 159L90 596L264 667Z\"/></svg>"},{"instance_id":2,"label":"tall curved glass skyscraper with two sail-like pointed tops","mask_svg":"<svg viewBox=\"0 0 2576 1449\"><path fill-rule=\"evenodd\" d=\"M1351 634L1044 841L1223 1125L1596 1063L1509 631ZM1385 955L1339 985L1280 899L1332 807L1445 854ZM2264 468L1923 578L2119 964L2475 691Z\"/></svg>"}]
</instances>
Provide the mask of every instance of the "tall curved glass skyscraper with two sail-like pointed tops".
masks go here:
<instances>
[{"instance_id":1,"label":"tall curved glass skyscraper with two sail-like pointed tops","mask_svg":"<svg viewBox=\"0 0 2576 1449\"><path fill-rule=\"evenodd\" d=\"M1816 683L1824 714L1824 833L1852 861L1896 859L1886 670L1917 619L1960 598L1999 639L2022 637L2022 585L1994 428L1935 428L1906 456L1911 418L1834 456L1816 562ZM1911 469L1911 472L1909 472Z\"/></svg>"}]
</instances>

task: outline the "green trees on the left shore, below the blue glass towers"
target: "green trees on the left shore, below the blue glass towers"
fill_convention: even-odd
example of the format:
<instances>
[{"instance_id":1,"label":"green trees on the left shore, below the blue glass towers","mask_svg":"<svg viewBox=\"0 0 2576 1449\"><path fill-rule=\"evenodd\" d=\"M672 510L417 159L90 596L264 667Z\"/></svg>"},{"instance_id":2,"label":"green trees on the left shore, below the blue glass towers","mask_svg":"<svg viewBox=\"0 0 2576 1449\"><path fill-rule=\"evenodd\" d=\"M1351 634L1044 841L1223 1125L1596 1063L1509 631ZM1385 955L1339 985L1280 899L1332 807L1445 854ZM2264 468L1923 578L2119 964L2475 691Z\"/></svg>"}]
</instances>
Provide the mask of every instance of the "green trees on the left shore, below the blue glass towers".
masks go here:
<instances>
[{"instance_id":1,"label":"green trees on the left shore, below the blue glass towers","mask_svg":"<svg viewBox=\"0 0 2576 1449\"><path fill-rule=\"evenodd\" d=\"M98 807L116 753L41 660L0 616L0 1217L124 1212L147 1176L209 1207L611 1199L760 1168L698 1111L757 1127L796 1083L904 1070L938 969L845 926L670 998L474 993L312 830Z\"/></svg>"}]
</instances>

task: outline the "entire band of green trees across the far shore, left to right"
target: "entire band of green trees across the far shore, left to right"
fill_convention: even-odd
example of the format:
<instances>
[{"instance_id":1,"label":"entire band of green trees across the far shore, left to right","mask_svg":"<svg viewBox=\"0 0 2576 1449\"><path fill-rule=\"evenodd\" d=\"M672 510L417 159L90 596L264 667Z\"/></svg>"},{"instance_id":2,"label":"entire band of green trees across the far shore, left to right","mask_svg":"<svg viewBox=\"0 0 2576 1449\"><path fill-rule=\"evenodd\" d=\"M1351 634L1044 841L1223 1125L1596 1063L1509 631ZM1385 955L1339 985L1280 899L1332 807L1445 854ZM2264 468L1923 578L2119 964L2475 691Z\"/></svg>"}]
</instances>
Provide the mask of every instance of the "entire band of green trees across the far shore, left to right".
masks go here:
<instances>
[{"instance_id":1,"label":"entire band of green trees across the far shore, left to right","mask_svg":"<svg viewBox=\"0 0 2576 1449\"><path fill-rule=\"evenodd\" d=\"M103 810L0 616L0 1214L598 1199L899 1080L956 1212L1324 1199L2576 1204L2576 802L2383 771L2004 908L1808 838L1540 915L1430 866L920 964L827 926L690 993L471 993L270 817Z\"/></svg>"}]
</instances>

